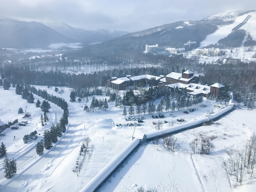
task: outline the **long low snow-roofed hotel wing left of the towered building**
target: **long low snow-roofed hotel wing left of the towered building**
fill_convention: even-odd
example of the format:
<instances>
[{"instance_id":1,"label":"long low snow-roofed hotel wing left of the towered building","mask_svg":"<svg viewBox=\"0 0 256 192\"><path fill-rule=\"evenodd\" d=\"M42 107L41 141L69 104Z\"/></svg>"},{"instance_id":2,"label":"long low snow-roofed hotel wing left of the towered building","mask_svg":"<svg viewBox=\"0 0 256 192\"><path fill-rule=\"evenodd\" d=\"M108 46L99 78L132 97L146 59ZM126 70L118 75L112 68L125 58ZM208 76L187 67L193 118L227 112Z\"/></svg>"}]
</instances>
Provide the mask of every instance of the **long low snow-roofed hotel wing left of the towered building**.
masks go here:
<instances>
[{"instance_id":1,"label":"long low snow-roofed hotel wing left of the towered building","mask_svg":"<svg viewBox=\"0 0 256 192\"><path fill-rule=\"evenodd\" d=\"M107 85L113 89L126 90L127 87L138 85L140 83L146 85L151 80L155 80L157 84L160 78L162 77L148 74L139 76L127 75L126 77L121 78L112 77L111 79L107 80ZM141 81L143 81L143 83Z\"/></svg>"}]
</instances>

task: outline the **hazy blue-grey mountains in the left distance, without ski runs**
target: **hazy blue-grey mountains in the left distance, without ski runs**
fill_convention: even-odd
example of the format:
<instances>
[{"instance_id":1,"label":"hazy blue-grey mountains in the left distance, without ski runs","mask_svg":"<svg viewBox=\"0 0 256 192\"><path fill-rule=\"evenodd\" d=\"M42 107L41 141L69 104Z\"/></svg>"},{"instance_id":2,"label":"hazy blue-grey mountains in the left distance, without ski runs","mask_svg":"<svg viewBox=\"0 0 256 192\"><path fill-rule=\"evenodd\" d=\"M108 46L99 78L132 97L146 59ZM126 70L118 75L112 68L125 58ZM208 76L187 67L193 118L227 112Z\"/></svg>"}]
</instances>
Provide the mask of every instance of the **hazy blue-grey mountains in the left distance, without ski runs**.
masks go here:
<instances>
[{"instance_id":1,"label":"hazy blue-grey mountains in the left distance, without ski runs","mask_svg":"<svg viewBox=\"0 0 256 192\"><path fill-rule=\"evenodd\" d=\"M90 45L104 42L124 34L126 31L97 31L71 27L67 24L43 25L39 22L25 22L0 18L0 47L2 48L47 48L54 43Z\"/></svg>"}]
</instances>

